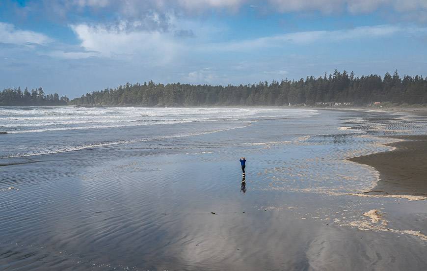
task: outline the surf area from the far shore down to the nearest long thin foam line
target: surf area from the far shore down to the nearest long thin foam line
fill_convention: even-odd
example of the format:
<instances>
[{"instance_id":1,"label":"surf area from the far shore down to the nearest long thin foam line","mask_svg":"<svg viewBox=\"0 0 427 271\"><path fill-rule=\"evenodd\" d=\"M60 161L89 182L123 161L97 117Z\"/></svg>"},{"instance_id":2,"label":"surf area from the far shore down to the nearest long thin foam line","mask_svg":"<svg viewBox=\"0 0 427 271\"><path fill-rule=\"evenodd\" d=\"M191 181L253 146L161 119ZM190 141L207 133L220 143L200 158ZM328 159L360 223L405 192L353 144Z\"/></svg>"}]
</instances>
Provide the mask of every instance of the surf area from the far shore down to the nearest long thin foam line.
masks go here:
<instances>
[{"instance_id":1,"label":"surf area from the far shore down to the nearest long thin foam line","mask_svg":"<svg viewBox=\"0 0 427 271\"><path fill-rule=\"evenodd\" d=\"M216 133L314 109L1 107L0 158L26 157Z\"/></svg>"}]
</instances>

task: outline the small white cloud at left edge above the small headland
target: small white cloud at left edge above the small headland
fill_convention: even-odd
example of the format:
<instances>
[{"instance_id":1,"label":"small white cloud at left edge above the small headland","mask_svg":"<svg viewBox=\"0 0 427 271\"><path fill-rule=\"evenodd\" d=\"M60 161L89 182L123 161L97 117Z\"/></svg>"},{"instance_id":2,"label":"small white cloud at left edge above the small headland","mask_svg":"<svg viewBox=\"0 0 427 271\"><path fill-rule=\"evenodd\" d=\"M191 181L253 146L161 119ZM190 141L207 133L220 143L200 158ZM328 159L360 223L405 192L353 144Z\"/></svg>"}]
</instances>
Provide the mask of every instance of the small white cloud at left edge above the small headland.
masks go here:
<instances>
[{"instance_id":1,"label":"small white cloud at left edge above the small headland","mask_svg":"<svg viewBox=\"0 0 427 271\"><path fill-rule=\"evenodd\" d=\"M48 36L27 30L17 29L12 24L0 23L0 42L1 43L12 43L12 44L27 44L37 43L46 44L51 42Z\"/></svg>"}]
</instances>

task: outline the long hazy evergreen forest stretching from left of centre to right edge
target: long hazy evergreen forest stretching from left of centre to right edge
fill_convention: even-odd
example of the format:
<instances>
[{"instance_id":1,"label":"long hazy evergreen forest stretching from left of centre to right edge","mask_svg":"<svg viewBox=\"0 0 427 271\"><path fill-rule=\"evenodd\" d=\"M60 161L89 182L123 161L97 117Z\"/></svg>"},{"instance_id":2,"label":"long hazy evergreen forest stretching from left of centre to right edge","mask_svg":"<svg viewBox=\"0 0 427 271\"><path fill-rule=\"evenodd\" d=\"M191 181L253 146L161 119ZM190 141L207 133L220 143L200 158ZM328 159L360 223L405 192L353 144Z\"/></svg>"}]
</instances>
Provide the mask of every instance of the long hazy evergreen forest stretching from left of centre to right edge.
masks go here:
<instances>
[{"instance_id":1,"label":"long hazy evergreen forest stretching from left of centre to right edge","mask_svg":"<svg viewBox=\"0 0 427 271\"><path fill-rule=\"evenodd\" d=\"M283 80L245 85L191 85L181 83L120 85L75 98L72 105L154 106L283 106L316 103L372 102L427 104L427 78L393 75L355 77L335 70L331 75L298 81Z\"/></svg>"}]
</instances>

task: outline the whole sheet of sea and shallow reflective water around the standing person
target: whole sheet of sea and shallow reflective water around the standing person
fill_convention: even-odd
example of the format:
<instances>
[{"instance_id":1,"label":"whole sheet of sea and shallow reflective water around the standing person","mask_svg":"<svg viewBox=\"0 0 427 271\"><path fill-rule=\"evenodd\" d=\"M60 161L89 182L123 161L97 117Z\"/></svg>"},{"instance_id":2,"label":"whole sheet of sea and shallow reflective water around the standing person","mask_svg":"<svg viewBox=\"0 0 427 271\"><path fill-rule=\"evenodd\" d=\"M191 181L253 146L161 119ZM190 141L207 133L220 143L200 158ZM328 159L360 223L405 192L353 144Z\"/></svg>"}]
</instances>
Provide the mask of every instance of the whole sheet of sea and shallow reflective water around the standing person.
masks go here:
<instances>
[{"instance_id":1,"label":"whole sheet of sea and shallow reflective water around the standing person","mask_svg":"<svg viewBox=\"0 0 427 271\"><path fill-rule=\"evenodd\" d=\"M378 135L425 133L422 118L283 108L1 110L0 129L10 133L0 137L1 270L427 266L427 242L408 233L427 233L426 201L351 195L378 176L345 160L390 150L382 143L391 139ZM387 226L363 216L371 209Z\"/></svg>"}]
</instances>

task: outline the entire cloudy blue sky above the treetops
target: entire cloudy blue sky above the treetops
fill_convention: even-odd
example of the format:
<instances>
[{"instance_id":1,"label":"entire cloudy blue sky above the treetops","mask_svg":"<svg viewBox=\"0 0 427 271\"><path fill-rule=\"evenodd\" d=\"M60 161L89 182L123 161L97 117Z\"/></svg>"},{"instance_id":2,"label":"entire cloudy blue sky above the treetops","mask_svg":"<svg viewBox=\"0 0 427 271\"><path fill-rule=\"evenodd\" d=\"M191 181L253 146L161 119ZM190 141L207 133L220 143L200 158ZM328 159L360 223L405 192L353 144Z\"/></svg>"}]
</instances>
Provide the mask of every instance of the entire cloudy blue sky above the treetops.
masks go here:
<instances>
[{"instance_id":1,"label":"entire cloudy blue sky above the treetops","mask_svg":"<svg viewBox=\"0 0 427 271\"><path fill-rule=\"evenodd\" d=\"M0 0L0 87L427 75L427 0Z\"/></svg>"}]
</instances>

